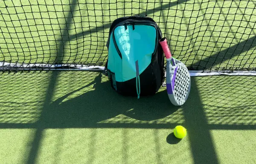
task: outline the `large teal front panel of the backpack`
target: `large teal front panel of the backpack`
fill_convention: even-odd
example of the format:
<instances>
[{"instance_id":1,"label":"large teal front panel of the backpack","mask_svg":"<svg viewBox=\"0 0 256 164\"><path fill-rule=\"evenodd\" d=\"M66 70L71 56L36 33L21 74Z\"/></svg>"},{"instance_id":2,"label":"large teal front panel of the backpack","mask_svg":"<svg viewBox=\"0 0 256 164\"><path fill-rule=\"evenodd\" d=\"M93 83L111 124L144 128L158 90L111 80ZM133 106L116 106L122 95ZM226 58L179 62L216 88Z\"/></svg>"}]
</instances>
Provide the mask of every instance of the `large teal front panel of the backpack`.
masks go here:
<instances>
[{"instance_id":1,"label":"large teal front panel of the backpack","mask_svg":"<svg viewBox=\"0 0 256 164\"><path fill-rule=\"evenodd\" d=\"M132 25L116 27L114 34L116 44L122 54L122 80L127 81L136 77L136 65L138 60L141 74L151 63L155 50L157 31L150 25Z\"/></svg>"}]
</instances>

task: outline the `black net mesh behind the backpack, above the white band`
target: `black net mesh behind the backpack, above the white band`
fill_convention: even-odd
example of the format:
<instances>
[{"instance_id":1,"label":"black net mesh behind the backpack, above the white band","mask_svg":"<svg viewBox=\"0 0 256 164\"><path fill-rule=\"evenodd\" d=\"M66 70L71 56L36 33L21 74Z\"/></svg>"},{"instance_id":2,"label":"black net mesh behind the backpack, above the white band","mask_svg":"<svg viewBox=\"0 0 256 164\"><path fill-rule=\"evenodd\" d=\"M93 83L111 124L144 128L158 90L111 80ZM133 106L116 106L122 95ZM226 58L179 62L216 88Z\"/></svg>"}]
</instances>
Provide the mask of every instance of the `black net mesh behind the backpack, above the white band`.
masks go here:
<instances>
[{"instance_id":1,"label":"black net mesh behind the backpack, above the white band","mask_svg":"<svg viewBox=\"0 0 256 164\"><path fill-rule=\"evenodd\" d=\"M250 0L0 0L0 68L104 66L113 20L143 15L157 22L189 70L256 70L255 6Z\"/></svg>"}]
</instances>

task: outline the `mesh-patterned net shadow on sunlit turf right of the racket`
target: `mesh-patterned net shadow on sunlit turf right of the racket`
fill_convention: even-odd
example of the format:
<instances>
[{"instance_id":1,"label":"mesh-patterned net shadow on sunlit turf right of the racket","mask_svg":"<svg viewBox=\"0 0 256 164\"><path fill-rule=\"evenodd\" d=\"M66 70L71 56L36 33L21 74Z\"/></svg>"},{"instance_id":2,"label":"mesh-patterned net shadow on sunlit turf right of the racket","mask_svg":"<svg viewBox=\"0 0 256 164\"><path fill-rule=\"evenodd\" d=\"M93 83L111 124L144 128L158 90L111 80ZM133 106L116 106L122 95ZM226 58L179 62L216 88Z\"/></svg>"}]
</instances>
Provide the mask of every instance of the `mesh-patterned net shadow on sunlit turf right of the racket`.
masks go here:
<instances>
[{"instance_id":1,"label":"mesh-patterned net shadow on sunlit turf right of the racket","mask_svg":"<svg viewBox=\"0 0 256 164\"><path fill-rule=\"evenodd\" d=\"M255 76L197 78L202 106L210 127L253 128L256 125ZM208 126L207 125L207 126Z\"/></svg>"}]
</instances>

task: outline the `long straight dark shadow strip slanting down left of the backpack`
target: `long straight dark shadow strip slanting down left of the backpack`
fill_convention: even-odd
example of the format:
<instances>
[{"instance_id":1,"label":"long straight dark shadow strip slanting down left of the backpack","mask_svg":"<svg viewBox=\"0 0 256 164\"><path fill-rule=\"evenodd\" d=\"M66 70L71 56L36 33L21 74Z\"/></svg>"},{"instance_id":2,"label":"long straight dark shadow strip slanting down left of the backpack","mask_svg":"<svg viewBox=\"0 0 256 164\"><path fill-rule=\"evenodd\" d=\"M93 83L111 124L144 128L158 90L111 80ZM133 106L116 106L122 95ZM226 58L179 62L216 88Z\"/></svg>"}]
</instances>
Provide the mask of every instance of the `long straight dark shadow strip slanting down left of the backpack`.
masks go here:
<instances>
[{"instance_id":1,"label":"long straight dark shadow strip slanting down left of the backpack","mask_svg":"<svg viewBox=\"0 0 256 164\"><path fill-rule=\"evenodd\" d=\"M68 5L69 8L67 10L69 12L67 12L66 15L64 14L64 20L66 23L64 24L64 27L62 29L60 28L61 35L59 36L58 44L56 45L57 53L53 55L54 61L59 63L62 63L62 61L65 60L65 53L67 50L66 47L70 46L70 49L71 49L71 43L70 43L71 41L69 40L68 35L69 35L69 32L72 30L72 25L73 25L72 22L75 22L73 13L76 12L75 8L77 7L77 4L75 3L76 2L75 0L72 0L69 2L70 2L70 5ZM55 9L54 5L53 7ZM71 54L71 51L70 51L70 54ZM28 163L35 163L35 159L38 156L40 142L43 139L43 132L45 130L45 126L47 126L47 122L45 122L45 120L48 121L47 113L51 111L49 106L53 98L53 95L55 93L54 91L55 91L55 85L58 82L58 75L59 75L59 72L54 71L52 72L51 77L49 78L49 82L47 84L47 93L45 94L45 98L44 98L44 104L41 107L42 112L39 120L35 122L36 132L35 132L34 140L31 143L32 147L30 149L29 157L27 159Z\"/></svg>"}]
</instances>

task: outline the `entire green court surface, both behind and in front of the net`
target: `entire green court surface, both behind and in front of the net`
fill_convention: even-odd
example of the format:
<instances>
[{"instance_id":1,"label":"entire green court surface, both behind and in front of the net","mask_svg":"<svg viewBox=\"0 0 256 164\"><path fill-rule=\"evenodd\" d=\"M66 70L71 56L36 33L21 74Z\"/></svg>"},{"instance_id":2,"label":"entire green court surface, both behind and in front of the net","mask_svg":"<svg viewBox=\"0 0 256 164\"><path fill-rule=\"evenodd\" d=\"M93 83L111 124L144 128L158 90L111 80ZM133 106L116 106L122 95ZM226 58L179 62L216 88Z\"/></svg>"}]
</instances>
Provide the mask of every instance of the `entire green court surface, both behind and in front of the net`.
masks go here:
<instances>
[{"instance_id":1,"label":"entire green court surface, both behind and in front of the net","mask_svg":"<svg viewBox=\"0 0 256 164\"><path fill-rule=\"evenodd\" d=\"M0 0L0 62L104 65L113 20L141 14L188 67L256 68L255 2L138 2ZM256 164L256 76L192 77L182 107L87 71L0 72L0 95L0 164Z\"/></svg>"}]
</instances>

